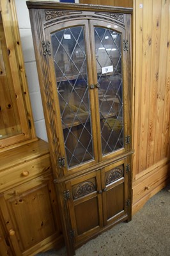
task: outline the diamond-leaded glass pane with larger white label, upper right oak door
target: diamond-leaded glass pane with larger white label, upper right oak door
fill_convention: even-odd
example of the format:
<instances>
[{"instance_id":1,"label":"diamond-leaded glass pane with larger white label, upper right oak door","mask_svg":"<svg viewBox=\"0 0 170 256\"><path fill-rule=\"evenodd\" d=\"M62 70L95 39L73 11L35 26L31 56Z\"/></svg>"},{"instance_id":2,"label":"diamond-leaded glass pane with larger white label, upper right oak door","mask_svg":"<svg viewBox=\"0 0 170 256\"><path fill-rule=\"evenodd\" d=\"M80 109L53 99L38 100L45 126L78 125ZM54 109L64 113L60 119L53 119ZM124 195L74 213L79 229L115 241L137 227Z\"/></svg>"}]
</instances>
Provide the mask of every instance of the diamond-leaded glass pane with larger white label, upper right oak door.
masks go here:
<instances>
[{"instance_id":1,"label":"diamond-leaded glass pane with larger white label, upper right oak door","mask_svg":"<svg viewBox=\"0 0 170 256\"><path fill-rule=\"evenodd\" d=\"M95 28L98 100L102 154L123 147L123 79L121 34L111 29Z\"/></svg>"}]
</instances>

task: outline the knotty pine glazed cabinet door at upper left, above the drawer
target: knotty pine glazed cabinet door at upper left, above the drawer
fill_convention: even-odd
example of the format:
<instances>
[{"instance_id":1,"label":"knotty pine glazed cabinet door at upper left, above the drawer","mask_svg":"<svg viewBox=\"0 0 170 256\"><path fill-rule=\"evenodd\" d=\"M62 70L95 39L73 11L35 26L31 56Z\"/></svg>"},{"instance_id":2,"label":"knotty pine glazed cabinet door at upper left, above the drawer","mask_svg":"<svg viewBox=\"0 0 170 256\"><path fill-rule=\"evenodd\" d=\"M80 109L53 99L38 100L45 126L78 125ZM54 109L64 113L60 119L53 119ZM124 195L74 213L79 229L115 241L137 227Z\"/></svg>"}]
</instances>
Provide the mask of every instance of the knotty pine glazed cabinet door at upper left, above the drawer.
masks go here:
<instances>
[{"instance_id":1,"label":"knotty pine glazed cabinet door at upper left, above the drawer","mask_svg":"<svg viewBox=\"0 0 170 256\"><path fill-rule=\"evenodd\" d=\"M7 150L36 140L14 1L0 13L0 147ZM30 125L32 127L30 127Z\"/></svg>"}]
</instances>

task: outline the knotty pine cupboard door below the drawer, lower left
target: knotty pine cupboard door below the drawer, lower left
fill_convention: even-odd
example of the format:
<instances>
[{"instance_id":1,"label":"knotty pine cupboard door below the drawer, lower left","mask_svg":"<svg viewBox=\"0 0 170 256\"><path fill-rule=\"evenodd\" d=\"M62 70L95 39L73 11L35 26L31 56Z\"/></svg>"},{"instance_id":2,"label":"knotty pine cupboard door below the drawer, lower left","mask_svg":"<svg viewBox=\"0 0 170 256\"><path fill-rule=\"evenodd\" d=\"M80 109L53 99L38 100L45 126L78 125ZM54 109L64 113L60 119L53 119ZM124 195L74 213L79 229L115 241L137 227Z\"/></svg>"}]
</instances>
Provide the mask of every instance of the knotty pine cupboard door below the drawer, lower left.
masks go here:
<instances>
[{"instance_id":1,"label":"knotty pine cupboard door below the drawer, lower left","mask_svg":"<svg viewBox=\"0 0 170 256\"><path fill-rule=\"evenodd\" d=\"M15 255L31 255L61 232L52 177L39 177L1 196L1 212Z\"/></svg>"}]
</instances>

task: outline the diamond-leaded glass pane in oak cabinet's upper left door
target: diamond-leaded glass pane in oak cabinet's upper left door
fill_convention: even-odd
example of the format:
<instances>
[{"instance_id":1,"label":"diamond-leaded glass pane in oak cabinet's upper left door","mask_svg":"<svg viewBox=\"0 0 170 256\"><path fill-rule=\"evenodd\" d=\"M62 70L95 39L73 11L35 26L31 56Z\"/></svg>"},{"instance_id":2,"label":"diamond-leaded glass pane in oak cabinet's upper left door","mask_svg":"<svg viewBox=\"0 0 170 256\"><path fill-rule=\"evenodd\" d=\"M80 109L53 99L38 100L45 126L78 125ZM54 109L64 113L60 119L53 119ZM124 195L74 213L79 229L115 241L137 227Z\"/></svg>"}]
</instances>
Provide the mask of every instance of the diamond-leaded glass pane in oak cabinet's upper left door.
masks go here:
<instances>
[{"instance_id":1,"label":"diamond-leaded glass pane in oak cabinet's upper left door","mask_svg":"<svg viewBox=\"0 0 170 256\"><path fill-rule=\"evenodd\" d=\"M86 49L82 26L51 35L68 168L93 159Z\"/></svg>"}]
</instances>

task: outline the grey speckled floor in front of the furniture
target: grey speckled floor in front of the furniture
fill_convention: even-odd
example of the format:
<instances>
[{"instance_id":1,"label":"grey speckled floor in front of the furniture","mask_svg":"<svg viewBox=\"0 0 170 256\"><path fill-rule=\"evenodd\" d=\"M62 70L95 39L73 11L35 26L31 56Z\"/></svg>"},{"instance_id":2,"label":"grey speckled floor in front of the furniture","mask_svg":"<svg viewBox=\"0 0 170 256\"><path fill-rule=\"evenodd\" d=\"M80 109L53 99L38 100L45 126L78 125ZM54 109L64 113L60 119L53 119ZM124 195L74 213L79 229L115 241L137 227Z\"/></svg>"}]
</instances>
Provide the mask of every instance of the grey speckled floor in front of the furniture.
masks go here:
<instances>
[{"instance_id":1,"label":"grey speckled floor in front of the furniture","mask_svg":"<svg viewBox=\"0 0 170 256\"><path fill-rule=\"evenodd\" d=\"M170 256L170 184L153 196L132 221L120 223L84 244L76 256ZM66 256L66 248L36 256Z\"/></svg>"}]
</instances>

